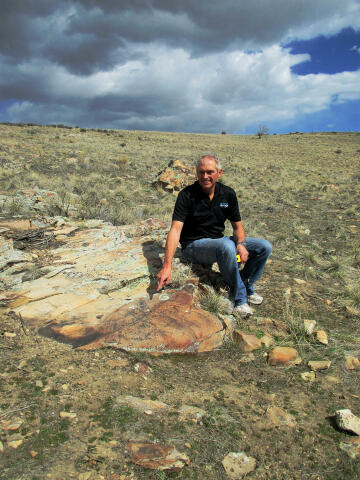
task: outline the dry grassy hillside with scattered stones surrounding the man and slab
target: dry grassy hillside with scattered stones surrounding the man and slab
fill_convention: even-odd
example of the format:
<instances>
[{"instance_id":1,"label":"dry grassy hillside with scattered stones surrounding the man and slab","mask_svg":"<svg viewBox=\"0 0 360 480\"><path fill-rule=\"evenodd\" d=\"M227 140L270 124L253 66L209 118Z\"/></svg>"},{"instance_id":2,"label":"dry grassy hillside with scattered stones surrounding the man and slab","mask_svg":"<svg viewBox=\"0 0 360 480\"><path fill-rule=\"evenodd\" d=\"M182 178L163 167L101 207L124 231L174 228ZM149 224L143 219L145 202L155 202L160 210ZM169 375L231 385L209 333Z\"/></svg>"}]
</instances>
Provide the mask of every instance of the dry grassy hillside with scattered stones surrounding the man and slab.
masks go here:
<instances>
[{"instance_id":1,"label":"dry grassy hillside with scattered stones surrounding the man and slab","mask_svg":"<svg viewBox=\"0 0 360 480\"><path fill-rule=\"evenodd\" d=\"M0 124L0 223L24 220L26 231L29 220L62 217L83 231L89 219L121 226L152 217L169 225L176 195L159 174L208 152L223 160L247 234L273 245L258 288L266 301L238 328L261 337L270 320L276 345L296 348L302 362L274 367L272 347L244 353L234 340L197 355L81 351L34 334L3 305L1 479L226 479L222 461L240 451L256 459L248 478L358 478L358 437L335 427L333 415L360 416L360 369L346 360L360 356L359 133L259 139ZM22 251L37 262L26 280L50 265L54 248L29 238ZM3 267L3 290L6 275ZM193 275L180 268L177 281ZM220 296L207 287L202 307L222 313ZM316 360L331 364L313 373ZM126 395L167 407L119 403ZM145 441L171 444L190 463L165 473L129 462L127 443Z\"/></svg>"}]
</instances>

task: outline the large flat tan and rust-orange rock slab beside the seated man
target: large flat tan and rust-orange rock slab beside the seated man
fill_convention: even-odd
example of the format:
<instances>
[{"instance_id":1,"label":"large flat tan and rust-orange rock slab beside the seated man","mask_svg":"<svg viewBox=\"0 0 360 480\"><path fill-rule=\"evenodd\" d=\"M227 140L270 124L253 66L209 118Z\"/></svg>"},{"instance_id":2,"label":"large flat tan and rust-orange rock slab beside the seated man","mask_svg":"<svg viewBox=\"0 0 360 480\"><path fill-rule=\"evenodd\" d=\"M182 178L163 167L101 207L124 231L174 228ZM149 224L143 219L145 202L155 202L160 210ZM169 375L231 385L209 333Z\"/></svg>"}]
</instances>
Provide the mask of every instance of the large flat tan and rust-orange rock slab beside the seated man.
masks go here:
<instances>
[{"instance_id":1,"label":"large flat tan and rust-orange rock slab beside the seated man","mask_svg":"<svg viewBox=\"0 0 360 480\"><path fill-rule=\"evenodd\" d=\"M80 228L69 222L62 225L63 241L51 249L44 274L0 294L0 302L40 334L76 348L212 350L221 345L225 329L198 307L194 285L154 294L151 278L161 266L165 232L153 219L124 227L89 221ZM31 253L17 251L11 241L2 245L4 267L19 261L19 254L31 260ZM3 275L7 271L11 275L10 270Z\"/></svg>"}]
</instances>

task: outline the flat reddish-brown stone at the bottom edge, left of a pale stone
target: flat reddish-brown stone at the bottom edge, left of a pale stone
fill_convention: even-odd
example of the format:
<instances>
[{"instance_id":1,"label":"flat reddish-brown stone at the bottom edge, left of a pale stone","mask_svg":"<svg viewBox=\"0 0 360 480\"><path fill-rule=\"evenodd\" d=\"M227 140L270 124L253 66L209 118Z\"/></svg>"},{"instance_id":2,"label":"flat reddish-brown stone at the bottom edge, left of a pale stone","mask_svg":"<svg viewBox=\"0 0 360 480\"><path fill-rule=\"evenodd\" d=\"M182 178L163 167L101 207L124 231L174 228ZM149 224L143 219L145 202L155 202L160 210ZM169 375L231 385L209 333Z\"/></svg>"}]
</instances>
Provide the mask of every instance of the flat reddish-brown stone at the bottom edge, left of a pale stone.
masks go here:
<instances>
[{"instance_id":1,"label":"flat reddish-brown stone at the bottom edge, left of a pale stone","mask_svg":"<svg viewBox=\"0 0 360 480\"><path fill-rule=\"evenodd\" d=\"M180 472L185 465L190 463L189 457L178 452L172 445L129 443L128 450L132 454L131 462L152 470Z\"/></svg>"}]
</instances>

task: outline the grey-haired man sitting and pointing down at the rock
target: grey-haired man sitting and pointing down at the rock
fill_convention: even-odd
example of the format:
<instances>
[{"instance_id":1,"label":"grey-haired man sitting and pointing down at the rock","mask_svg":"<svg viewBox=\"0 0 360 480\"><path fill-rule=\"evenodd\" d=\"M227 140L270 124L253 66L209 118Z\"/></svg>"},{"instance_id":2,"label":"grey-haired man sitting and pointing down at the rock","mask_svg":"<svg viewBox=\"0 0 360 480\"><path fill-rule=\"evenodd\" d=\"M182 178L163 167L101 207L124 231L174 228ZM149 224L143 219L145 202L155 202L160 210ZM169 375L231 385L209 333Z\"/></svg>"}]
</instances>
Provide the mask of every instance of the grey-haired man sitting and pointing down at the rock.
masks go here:
<instances>
[{"instance_id":1,"label":"grey-haired man sitting and pointing down at the rock","mask_svg":"<svg viewBox=\"0 0 360 480\"><path fill-rule=\"evenodd\" d=\"M254 283L271 254L271 245L267 240L245 237L236 193L217 182L222 168L216 157L201 157L196 174L198 180L184 188L176 200L163 267L157 275L158 290L171 281L171 263L180 240L186 259L201 264L218 263L234 297L234 313L250 316L253 311L248 301L253 304L263 301L255 293ZM223 236L227 219L233 228L232 237ZM245 264L241 272L237 254Z\"/></svg>"}]
</instances>

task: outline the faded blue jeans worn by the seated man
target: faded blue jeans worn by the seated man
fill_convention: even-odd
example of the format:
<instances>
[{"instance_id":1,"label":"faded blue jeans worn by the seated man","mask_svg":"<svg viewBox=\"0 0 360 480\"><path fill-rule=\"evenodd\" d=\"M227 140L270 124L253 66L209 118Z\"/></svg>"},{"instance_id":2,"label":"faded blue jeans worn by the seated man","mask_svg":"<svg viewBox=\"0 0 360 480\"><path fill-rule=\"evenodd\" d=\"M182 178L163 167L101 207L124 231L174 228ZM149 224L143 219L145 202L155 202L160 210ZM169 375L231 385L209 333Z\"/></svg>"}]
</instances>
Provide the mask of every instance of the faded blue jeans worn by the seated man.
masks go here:
<instances>
[{"instance_id":1,"label":"faded blue jeans worn by the seated man","mask_svg":"<svg viewBox=\"0 0 360 480\"><path fill-rule=\"evenodd\" d=\"M239 271L236 261L236 244L233 237L201 238L189 243L183 255L193 263L212 265L217 262L224 282L231 288L235 303L247 302L254 293L254 283L264 270L272 247L267 240L247 237L244 242L249 252L245 267Z\"/></svg>"}]
</instances>

